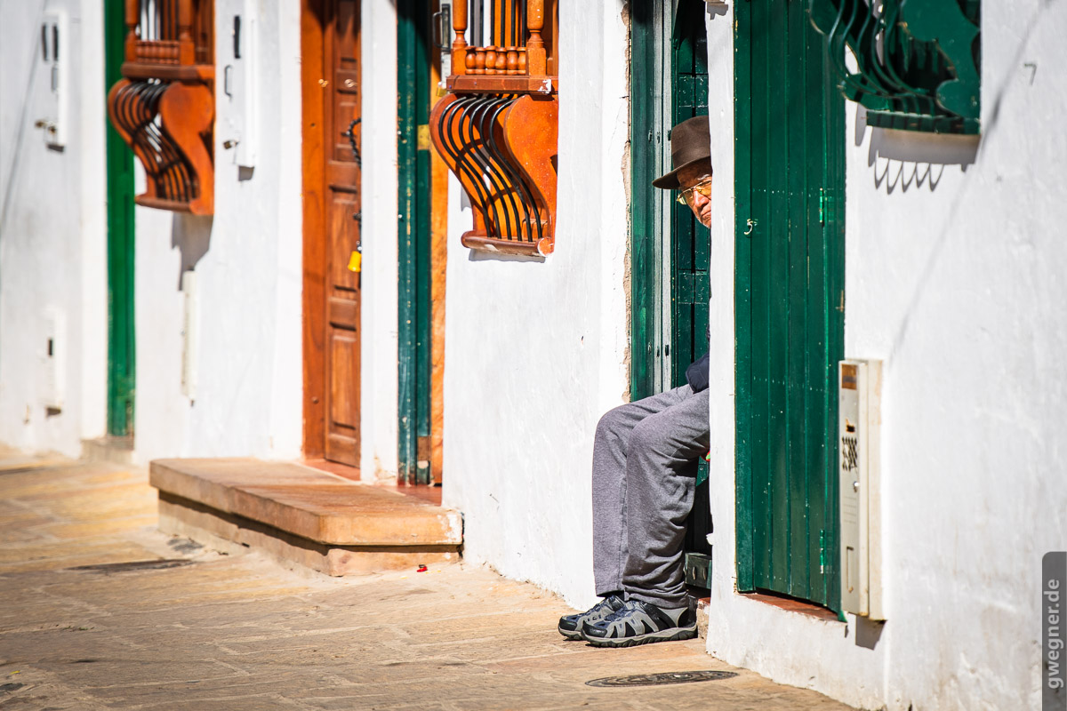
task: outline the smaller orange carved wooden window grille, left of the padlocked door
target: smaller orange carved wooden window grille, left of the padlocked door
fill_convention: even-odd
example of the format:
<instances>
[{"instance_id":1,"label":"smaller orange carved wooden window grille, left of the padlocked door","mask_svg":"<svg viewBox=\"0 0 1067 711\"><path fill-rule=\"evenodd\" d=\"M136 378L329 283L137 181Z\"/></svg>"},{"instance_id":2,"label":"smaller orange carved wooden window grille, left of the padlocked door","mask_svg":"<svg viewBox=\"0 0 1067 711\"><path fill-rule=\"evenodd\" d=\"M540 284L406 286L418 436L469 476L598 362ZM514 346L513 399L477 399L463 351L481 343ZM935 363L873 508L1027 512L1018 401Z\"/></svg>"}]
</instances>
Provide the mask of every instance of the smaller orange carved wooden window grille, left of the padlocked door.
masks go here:
<instances>
[{"instance_id":1,"label":"smaller orange carved wooden window grille, left of the padlocked door","mask_svg":"<svg viewBox=\"0 0 1067 711\"><path fill-rule=\"evenodd\" d=\"M126 0L123 79L108 116L144 165L145 207L214 211L213 0Z\"/></svg>"}]
</instances>

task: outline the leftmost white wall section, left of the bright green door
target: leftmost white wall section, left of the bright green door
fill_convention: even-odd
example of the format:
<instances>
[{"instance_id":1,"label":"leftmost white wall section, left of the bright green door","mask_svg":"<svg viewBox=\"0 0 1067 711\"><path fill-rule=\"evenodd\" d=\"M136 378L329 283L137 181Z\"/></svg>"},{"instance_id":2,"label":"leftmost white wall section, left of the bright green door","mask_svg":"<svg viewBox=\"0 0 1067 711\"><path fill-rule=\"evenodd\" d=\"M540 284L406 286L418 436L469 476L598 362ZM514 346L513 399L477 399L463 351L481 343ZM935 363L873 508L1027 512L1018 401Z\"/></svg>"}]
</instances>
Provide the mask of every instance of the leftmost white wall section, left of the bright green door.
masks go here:
<instances>
[{"instance_id":1,"label":"leftmost white wall section, left of the bright green door","mask_svg":"<svg viewBox=\"0 0 1067 711\"><path fill-rule=\"evenodd\" d=\"M69 19L62 151L34 128L50 94L39 44L46 10ZM0 0L0 441L77 456L82 439L103 434L107 409L101 3ZM52 359L49 314L59 324ZM49 414L43 397L52 368L62 408Z\"/></svg>"}]
</instances>

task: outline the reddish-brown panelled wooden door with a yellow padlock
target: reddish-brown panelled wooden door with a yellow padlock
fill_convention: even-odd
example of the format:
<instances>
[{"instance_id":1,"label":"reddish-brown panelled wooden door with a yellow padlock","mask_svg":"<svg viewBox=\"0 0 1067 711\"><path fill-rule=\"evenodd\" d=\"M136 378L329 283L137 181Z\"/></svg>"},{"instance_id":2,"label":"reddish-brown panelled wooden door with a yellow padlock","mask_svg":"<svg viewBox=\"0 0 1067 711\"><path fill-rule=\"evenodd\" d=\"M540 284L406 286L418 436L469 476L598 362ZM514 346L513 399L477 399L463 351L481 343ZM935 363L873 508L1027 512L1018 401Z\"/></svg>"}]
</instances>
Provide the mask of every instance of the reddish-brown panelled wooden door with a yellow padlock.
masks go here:
<instances>
[{"instance_id":1,"label":"reddish-brown panelled wooden door with a yellow padlock","mask_svg":"<svg viewBox=\"0 0 1067 711\"><path fill-rule=\"evenodd\" d=\"M305 0L304 308L308 457L360 464L360 0Z\"/></svg>"}]
</instances>

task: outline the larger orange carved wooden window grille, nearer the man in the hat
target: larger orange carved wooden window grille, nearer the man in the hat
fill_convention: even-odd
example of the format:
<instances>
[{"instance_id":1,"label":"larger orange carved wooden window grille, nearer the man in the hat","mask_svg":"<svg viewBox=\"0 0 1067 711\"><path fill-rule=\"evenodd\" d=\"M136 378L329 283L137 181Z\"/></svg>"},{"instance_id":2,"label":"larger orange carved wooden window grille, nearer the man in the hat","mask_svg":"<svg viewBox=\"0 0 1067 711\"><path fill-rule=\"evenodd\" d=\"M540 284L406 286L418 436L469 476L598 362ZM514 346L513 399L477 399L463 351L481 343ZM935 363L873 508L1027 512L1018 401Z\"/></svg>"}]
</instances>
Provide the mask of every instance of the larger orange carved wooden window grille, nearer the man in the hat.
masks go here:
<instances>
[{"instance_id":1,"label":"larger orange carved wooden window grille, nearer the man in the hat","mask_svg":"<svg viewBox=\"0 0 1067 711\"><path fill-rule=\"evenodd\" d=\"M474 208L474 229L462 243L548 255L556 226L557 2L474 0L472 5L481 11L492 44L467 44L467 3L456 2L450 93L430 114L434 148Z\"/></svg>"}]
</instances>

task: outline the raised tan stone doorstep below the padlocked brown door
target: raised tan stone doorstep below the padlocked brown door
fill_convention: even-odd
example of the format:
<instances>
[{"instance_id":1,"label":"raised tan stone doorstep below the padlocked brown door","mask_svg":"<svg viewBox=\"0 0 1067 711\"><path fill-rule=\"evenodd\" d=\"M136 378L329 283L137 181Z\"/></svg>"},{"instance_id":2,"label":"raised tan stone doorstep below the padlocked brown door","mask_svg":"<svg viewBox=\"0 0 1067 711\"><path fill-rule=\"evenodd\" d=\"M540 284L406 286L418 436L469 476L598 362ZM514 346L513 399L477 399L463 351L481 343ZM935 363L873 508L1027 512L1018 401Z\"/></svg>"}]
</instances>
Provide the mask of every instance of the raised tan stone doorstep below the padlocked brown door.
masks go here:
<instances>
[{"instance_id":1,"label":"raised tan stone doorstep below the padlocked brown door","mask_svg":"<svg viewBox=\"0 0 1067 711\"><path fill-rule=\"evenodd\" d=\"M459 512L286 462L156 459L160 529L331 576L456 560Z\"/></svg>"}]
</instances>

